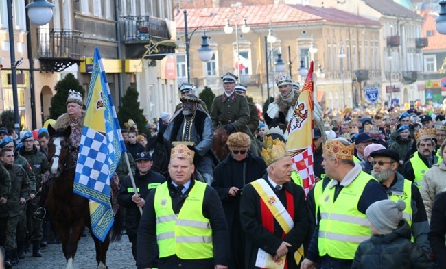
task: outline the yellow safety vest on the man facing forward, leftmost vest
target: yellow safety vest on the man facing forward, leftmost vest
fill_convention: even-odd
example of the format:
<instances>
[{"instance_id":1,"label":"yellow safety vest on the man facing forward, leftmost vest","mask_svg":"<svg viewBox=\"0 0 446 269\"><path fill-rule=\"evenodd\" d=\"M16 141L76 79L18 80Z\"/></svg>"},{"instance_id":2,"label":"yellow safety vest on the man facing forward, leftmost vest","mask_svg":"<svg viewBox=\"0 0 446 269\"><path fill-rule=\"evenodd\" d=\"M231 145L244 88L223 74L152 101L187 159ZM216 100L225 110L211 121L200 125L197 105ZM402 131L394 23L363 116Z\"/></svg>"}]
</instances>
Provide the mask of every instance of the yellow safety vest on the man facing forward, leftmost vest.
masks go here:
<instances>
[{"instance_id":1,"label":"yellow safety vest on the man facing forward, leftmost vest","mask_svg":"<svg viewBox=\"0 0 446 269\"><path fill-rule=\"evenodd\" d=\"M167 182L155 191L156 242L159 257L176 255L180 259L213 257L212 229L202 213L206 183L195 181L178 216L172 209Z\"/></svg>"}]
</instances>

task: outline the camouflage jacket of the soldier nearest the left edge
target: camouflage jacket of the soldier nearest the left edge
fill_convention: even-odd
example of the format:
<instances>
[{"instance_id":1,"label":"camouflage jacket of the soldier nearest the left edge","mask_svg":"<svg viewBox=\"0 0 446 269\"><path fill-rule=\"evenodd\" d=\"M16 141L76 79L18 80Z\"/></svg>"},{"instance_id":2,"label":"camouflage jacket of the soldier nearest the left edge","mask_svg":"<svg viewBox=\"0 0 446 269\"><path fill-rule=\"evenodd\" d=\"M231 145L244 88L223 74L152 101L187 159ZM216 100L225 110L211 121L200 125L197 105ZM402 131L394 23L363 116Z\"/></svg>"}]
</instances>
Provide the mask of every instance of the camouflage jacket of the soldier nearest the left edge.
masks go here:
<instances>
[{"instance_id":1,"label":"camouflage jacket of the soldier nearest the left edge","mask_svg":"<svg viewBox=\"0 0 446 269\"><path fill-rule=\"evenodd\" d=\"M27 199L30 197L30 182L25 170L20 166L5 164L5 168L8 170L11 178L11 193L8 203L6 203L8 205L8 214L2 217L15 217L22 212L22 205L19 203L20 198Z\"/></svg>"}]
</instances>

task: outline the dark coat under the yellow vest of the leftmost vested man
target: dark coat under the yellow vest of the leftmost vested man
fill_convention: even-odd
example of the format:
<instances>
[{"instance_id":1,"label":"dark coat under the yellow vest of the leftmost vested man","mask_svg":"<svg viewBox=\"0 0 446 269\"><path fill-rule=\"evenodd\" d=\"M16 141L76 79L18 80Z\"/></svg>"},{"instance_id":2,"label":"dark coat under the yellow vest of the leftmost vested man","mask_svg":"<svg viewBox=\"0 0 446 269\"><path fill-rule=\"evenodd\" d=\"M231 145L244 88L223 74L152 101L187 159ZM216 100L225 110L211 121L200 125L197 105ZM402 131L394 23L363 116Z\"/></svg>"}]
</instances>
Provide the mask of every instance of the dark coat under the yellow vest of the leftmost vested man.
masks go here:
<instances>
[{"instance_id":1,"label":"dark coat under the yellow vest of the leftmost vested man","mask_svg":"<svg viewBox=\"0 0 446 269\"><path fill-rule=\"evenodd\" d=\"M194 182L191 179L190 188L180 195L170 179L169 194L172 198L172 209L175 214L180 212L185 203L187 194L193 188ZM156 190L156 189L155 189ZM145 201L145 207L141 222L139 222L138 243L137 243L137 266L142 268L159 269L213 269L215 265L228 265L228 227L224 218L222 203L218 194L210 186L204 191L203 216L211 222L213 259L180 259L176 255L158 259L159 251L156 244L156 212L154 207L155 190L149 192Z\"/></svg>"}]
</instances>

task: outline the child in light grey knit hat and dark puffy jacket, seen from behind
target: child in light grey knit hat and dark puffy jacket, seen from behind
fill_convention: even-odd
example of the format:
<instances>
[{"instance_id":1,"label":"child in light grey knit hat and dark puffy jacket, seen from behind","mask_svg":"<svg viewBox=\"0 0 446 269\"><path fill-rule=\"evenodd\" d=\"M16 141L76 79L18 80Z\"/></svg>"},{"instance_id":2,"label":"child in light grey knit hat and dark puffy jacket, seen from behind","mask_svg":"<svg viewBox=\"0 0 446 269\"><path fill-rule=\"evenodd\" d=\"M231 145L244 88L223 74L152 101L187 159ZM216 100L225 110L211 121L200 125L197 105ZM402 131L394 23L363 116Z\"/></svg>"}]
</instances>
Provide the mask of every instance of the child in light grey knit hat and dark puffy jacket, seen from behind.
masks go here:
<instances>
[{"instance_id":1,"label":"child in light grey knit hat and dark puffy jacket, seen from behind","mask_svg":"<svg viewBox=\"0 0 446 269\"><path fill-rule=\"evenodd\" d=\"M382 200L366 210L372 237L356 250L352 269L438 268L415 243L410 227L403 220L403 200Z\"/></svg>"}]
</instances>

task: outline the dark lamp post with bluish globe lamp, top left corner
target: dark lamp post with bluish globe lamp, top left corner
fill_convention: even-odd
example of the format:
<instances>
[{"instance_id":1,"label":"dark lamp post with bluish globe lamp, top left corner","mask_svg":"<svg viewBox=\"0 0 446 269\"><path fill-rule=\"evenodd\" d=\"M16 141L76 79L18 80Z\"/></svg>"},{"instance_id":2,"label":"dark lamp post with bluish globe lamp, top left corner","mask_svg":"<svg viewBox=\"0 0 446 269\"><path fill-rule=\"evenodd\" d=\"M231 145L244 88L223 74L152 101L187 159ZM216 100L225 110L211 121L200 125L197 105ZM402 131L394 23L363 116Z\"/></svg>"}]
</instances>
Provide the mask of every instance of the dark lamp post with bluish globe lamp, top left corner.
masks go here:
<instances>
[{"instance_id":1,"label":"dark lamp post with bluish globe lamp, top left corner","mask_svg":"<svg viewBox=\"0 0 446 269\"><path fill-rule=\"evenodd\" d=\"M10 42L10 58L11 58L11 84L12 84L12 102L14 105L14 129L18 138L20 138L20 119L19 119L19 97L17 96L17 66L21 64L21 61L16 62L16 50L14 42L14 27L12 25L12 1L6 1L6 9L8 14L8 32ZM45 25L51 21L53 17L52 3L46 0L35 0L29 3L26 7L28 10L28 17L30 21L35 25ZM32 60L32 59L30 59Z\"/></svg>"}]
</instances>

